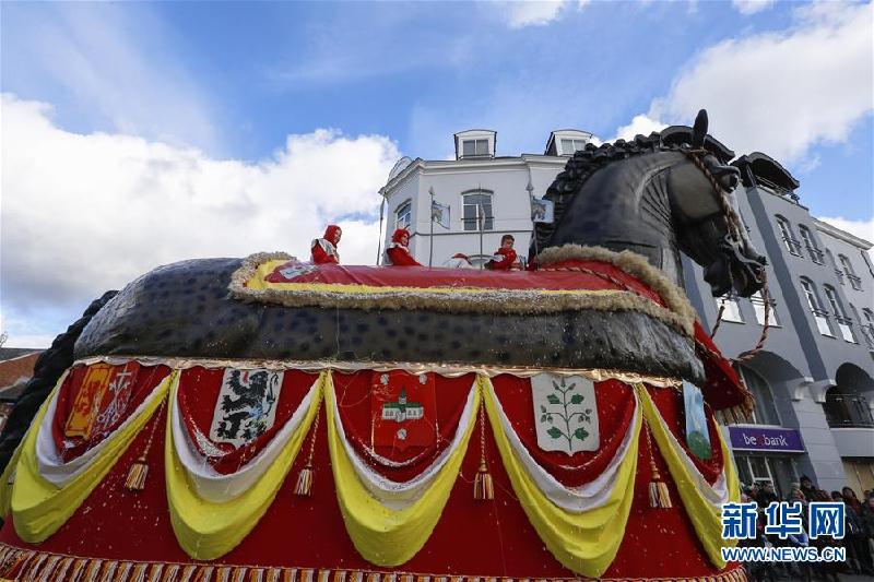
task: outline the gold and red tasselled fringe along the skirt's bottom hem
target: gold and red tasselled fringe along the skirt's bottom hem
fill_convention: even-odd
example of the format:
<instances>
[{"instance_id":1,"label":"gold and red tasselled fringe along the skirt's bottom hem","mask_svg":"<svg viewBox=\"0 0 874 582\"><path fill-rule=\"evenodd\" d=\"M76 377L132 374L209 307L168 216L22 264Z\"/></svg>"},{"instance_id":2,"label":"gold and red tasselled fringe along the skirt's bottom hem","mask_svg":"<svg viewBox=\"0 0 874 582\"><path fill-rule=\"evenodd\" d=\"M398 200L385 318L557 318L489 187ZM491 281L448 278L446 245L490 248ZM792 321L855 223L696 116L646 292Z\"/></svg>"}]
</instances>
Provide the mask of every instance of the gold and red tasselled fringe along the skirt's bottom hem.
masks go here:
<instances>
[{"instance_id":1,"label":"gold and red tasselled fringe along the skirt's bottom hem","mask_svg":"<svg viewBox=\"0 0 874 582\"><path fill-rule=\"evenodd\" d=\"M279 568L225 563L142 562L66 556L21 549L0 543L0 579L78 582L575 582L587 578L506 578L436 575L329 568ZM684 578L602 578L609 582L746 582L743 568L713 575Z\"/></svg>"}]
</instances>

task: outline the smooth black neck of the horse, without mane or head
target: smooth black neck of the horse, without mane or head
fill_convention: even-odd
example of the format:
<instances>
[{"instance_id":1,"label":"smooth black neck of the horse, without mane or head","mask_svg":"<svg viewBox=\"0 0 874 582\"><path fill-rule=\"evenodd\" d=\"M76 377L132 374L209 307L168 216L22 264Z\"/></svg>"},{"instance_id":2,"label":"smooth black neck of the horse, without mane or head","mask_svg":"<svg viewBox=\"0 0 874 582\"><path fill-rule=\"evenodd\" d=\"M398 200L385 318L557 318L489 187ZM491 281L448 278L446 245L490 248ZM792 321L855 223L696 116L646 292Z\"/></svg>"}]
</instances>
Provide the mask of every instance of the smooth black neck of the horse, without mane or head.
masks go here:
<instances>
[{"instance_id":1,"label":"smooth black neck of the horse, without mane or head","mask_svg":"<svg viewBox=\"0 0 874 582\"><path fill-rule=\"evenodd\" d=\"M664 171L676 162L676 155L682 154L631 157L594 173L565 203L550 246L577 244L634 251L682 287Z\"/></svg>"}]
</instances>

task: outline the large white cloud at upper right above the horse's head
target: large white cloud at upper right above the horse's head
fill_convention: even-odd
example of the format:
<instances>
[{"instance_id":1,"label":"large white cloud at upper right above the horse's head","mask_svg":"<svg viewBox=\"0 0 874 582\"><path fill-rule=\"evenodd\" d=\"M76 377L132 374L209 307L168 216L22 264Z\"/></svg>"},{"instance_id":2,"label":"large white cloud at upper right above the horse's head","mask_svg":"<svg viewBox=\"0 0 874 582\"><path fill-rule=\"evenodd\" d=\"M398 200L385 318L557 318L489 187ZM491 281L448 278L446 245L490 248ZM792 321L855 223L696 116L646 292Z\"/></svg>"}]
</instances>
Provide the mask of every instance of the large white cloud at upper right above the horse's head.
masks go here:
<instances>
[{"instance_id":1,"label":"large white cloud at upper right above the horse's head","mask_svg":"<svg viewBox=\"0 0 874 582\"><path fill-rule=\"evenodd\" d=\"M707 48L647 115L689 123L707 108L720 141L782 163L803 159L815 144L846 141L874 108L872 4L813 4L795 19L786 32Z\"/></svg>"}]
</instances>

